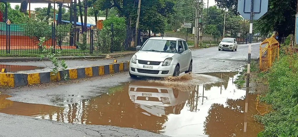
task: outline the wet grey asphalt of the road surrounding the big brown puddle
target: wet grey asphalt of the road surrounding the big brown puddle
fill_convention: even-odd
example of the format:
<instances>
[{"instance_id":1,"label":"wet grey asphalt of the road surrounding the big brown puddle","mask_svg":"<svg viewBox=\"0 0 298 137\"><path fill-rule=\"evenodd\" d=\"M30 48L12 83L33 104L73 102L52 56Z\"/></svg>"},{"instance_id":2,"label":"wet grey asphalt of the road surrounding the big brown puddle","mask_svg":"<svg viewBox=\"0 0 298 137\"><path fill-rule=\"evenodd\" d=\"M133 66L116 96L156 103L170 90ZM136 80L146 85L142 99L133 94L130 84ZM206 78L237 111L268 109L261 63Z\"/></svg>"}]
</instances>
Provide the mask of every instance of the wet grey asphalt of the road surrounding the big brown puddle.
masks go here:
<instances>
[{"instance_id":1,"label":"wet grey asphalt of the road surrounding the big brown puddle","mask_svg":"<svg viewBox=\"0 0 298 137\"><path fill-rule=\"evenodd\" d=\"M218 51L217 47L208 49L192 50L193 53L193 71L194 73L203 72L226 72L238 70L242 65L246 64L247 60L247 45L238 45L238 51ZM257 44L252 46L252 58L257 58L259 53ZM129 60L126 57L120 60ZM92 61L92 64L108 62L110 60ZM39 63L39 62L38 62ZM86 61L84 61L86 63ZM87 62L89 63L89 62ZM5 63L15 65L13 63ZM76 63L72 61L73 66L82 65L82 62ZM19 64L18 64L19 65ZM22 64L24 65L24 64ZM27 64L28 65L28 64ZM30 64L33 65L33 64ZM65 105L81 102L83 99L90 99L101 94L106 94L112 87L124 85L128 81L138 81L144 79L133 80L127 73L119 73L111 76L103 76L100 78L90 78L89 80L81 80L78 83L67 85L49 85L35 86L19 89L11 89L2 91L2 94L10 95L8 98L16 102L25 102L33 104L45 104L51 106L65 107ZM200 76L198 85L212 83L218 81L215 77ZM7 98L9 96L6 96ZM3 99L2 99L3 100ZM1 102L1 99L0 99ZM0 106L1 110L1 106ZM36 119L24 115L15 116L20 113L8 115L0 113L0 127L10 124L9 128L1 128L0 136L163 136L152 132L145 132L137 129L99 126L99 125L80 125L68 124L63 122L53 122L43 119ZM21 114L20 114L21 115ZM40 118L40 117L39 117ZM48 119L48 118L45 118ZM42 124L41 124L42 123ZM117 126L117 125L116 125ZM10 129L18 129L19 132L10 134ZM33 128L32 128L33 127ZM44 127L44 128L41 128ZM48 129L46 128L48 127ZM30 128L34 129L31 130ZM29 130L30 129L30 130ZM77 130L78 129L78 130ZM103 130L97 130L103 129ZM123 130L125 134L120 134L114 130ZM11 132L10 132L11 131ZM32 133L34 134L32 134ZM104 133L104 134L103 134Z\"/></svg>"}]
</instances>

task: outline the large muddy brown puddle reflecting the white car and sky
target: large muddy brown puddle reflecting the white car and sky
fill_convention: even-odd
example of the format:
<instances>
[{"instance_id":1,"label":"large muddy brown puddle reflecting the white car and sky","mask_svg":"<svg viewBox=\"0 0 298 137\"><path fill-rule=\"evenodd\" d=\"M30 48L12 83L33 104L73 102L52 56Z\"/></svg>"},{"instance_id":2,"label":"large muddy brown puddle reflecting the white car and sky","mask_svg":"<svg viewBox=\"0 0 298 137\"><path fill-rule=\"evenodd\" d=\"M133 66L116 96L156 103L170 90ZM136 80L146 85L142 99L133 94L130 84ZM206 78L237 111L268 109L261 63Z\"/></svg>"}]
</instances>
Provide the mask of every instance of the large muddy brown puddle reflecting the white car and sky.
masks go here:
<instances>
[{"instance_id":1,"label":"large muddy brown puddle reflecting the white car and sky","mask_svg":"<svg viewBox=\"0 0 298 137\"><path fill-rule=\"evenodd\" d=\"M222 82L193 85L190 90L156 82L134 81L109 88L107 94L63 107L14 102L0 95L0 113L76 124L131 127L168 136L256 137L262 126L255 95L233 84L238 72L208 73ZM248 100L245 100L248 99ZM243 133L248 101L247 132Z\"/></svg>"}]
</instances>

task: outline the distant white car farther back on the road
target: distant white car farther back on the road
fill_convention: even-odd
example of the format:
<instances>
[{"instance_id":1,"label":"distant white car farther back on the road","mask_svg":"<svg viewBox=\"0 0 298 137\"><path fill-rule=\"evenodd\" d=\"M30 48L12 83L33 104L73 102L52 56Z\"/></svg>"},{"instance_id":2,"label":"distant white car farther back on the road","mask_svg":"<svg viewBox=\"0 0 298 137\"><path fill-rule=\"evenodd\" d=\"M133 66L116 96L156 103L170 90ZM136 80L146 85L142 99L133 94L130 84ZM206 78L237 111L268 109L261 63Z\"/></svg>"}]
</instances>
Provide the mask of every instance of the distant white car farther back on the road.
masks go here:
<instances>
[{"instance_id":1,"label":"distant white car farther back on the road","mask_svg":"<svg viewBox=\"0 0 298 137\"><path fill-rule=\"evenodd\" d=\"M232 50L237 51L237 41L235 38L223 38L221 43L218 45L218 51L222 50Z\"/></svg>"}]
</instances>

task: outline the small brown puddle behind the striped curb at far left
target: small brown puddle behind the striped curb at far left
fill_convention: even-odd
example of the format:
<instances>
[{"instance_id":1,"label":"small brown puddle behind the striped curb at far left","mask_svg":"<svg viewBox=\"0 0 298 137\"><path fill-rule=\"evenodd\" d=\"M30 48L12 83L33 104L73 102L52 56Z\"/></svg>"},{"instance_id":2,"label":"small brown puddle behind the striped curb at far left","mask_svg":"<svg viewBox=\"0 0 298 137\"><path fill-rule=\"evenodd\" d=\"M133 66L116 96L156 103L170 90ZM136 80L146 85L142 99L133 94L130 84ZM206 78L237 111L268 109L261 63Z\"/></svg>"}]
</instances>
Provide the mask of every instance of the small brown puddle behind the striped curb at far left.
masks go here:
<instances>
[{"instance_id":1,"label":"small brown puddle behind the striped curb at far left","mask_svg":"<svg viewBox=\"0 0 298 137\"><path fill-rule=\"evenodd\" d=\"M19 65L3 65L0 64L0 69L6 68L7 72L18 72L18 71L27 71L27 70L35 70L35 69L43 69L44 67L37 66L19 66Z\"/></svg>"}]
</instances>

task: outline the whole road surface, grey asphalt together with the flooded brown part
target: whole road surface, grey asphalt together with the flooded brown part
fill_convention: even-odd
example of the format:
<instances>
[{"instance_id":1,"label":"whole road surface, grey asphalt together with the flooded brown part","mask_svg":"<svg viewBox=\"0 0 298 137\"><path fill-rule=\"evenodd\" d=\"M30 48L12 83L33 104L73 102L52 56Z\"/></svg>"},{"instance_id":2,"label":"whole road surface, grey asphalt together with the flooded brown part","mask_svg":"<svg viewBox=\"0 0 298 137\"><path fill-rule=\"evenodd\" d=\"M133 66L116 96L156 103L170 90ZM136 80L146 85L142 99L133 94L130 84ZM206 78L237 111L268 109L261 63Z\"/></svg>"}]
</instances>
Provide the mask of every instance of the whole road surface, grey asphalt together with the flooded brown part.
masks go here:
<instances>
[{"instance_id":1,"label":"whole road surface, grey asphalt together with the flooded brown part","mask_svg":"<svg viewBox=\"0 0 298 137\"><path fill-rule=\"evenodd\" d=\"M218 51L217 47L192 50L194 74L192 77L181 77L182 80L185 79L183 81L131 79L127 72L123 72L81 79L65 85L54 83L2 91L0 127L4 128L0 128L0 137L216 136L215 133L218 136L224 134L243 136L242 130L235 130L242 128L237 125L242 126L239 124L242 122L239 119L242 119L243 113L235 114L235 117L232 117L234 114L229 114L232 118L226 117L224 124L229 126L223 128L218 123L216 125L220 130L215 130L216 132L211 130L213 128L208 128L208 123L212 123L206 121L205 118L211 115L212 108L219 107L217 110L222 110L221 113L235 112L220 108L222 106L216 104L229 103L229 99L234 99L232 102L240 102L236 105L243 103L241 97L245 96L245 91L235 88L233 84L238 73L230 71L239 70L242 65L246 64L247 47L247 45L238 45L238 51L235 52ZM258 57L258 50L257 44L252 46L252 58ZM129 59L130 57L120 60ZM111 60L92 61L92 64L106 61ZM82 65L83 62L70 61L70 63ZM84 61L84 63L90 62ZM13 63L5 64L14 65ZM172 90L173 93L179 93L176 95L174 93L175 98L176 96L178 98L170 100L170 102L175 102L170 105L154 104L154 102L148 104L147 98L144 98L145 102L138 102L141 98L131 97L136 94L133 89L144 86L150 87L151 90L160 86L168 88L169 94ZM204 90L206 93L202 94L201 91ZM154 95L153 92L152 96ZM200 98L200 96L204 97ZM147 101L150 99L156 98L148 98ZM236 119L239 123L237 124L237 121L235 124L235 121L231 119ZM237 128L234 129L234 125ZM233 128L225 129L230 127ZM233 131L235 133L229 133ZM242 134L238 131L242 131ZM254 130L252 135L256 131L258 130Z\"/></svg>"}]
</instances>

